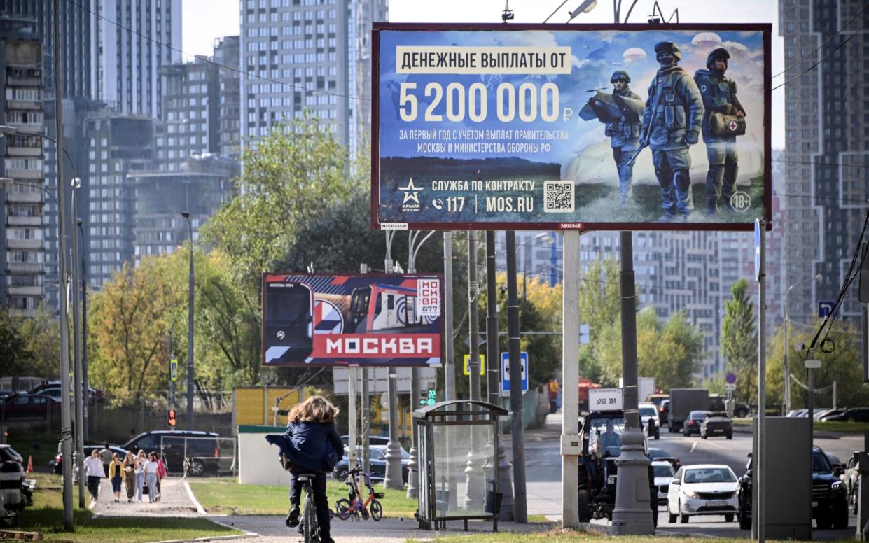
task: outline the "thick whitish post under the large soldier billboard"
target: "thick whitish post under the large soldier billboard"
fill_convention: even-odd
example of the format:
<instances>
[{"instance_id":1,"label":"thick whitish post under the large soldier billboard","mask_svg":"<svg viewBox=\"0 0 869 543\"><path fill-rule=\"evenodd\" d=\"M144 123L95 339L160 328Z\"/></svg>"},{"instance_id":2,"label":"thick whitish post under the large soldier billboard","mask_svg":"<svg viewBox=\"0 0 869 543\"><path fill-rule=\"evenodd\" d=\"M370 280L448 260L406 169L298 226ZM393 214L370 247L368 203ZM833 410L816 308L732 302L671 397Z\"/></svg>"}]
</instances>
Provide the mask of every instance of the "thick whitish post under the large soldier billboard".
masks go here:
<instances>
[{"instance_id":1,"label":"thick whitish post under the large soldier billboard","mask_svg":"<svg viewBox=\"0 0 869 543\"><path fill-rule=\"evenodd\" d=\"M561 294L561 524L579 528L580 233L564 233Z\"/></svg>"}]
</instances>

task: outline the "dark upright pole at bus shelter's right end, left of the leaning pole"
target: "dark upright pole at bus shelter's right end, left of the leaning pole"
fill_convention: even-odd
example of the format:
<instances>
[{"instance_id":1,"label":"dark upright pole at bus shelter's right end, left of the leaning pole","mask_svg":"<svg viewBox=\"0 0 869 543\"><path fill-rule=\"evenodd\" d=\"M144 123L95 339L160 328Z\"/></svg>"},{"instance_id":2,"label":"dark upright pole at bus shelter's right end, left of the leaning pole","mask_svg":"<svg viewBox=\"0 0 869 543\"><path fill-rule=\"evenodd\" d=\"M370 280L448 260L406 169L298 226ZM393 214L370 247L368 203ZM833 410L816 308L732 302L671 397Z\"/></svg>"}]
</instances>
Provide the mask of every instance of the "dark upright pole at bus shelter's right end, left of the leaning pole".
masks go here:
<instances>
[{"instance_id":1,"label":"dark upright pole at bus shelter's right end, left of the leaning pole","mask_svg":"<svg viewBox=\"0 0 869 543\"><path fill-rule=\"evenodd\" d=\"M486 231L486 356L490 361L499 359L498 347L498 295L495 285L495 233L494 230ZM501 405L501 383L497 364L489 363L486 368L488 402L496 406ZM495 454L498 462L498 490L501 491L501 511L498 513L499 520L513 520L513 481L510 480L510 462L507 461L507 449L498 434L498 441L489 441L486 447L497 447ZM488 456L488 455L487 455Z\"/></svg>"}]
</instances>

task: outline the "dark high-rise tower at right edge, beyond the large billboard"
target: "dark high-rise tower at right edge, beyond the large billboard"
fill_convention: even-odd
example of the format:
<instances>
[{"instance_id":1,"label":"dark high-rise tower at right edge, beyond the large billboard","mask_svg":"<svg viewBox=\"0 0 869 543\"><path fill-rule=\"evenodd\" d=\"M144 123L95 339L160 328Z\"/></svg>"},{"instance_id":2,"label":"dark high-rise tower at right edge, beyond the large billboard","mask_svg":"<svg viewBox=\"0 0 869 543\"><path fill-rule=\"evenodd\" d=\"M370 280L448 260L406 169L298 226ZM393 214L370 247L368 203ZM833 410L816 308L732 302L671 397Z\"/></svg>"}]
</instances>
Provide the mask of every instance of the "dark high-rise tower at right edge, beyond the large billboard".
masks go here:
<instances>
[{"instance_id":1,"label":"dark high-rise tower at right edge, beyond the large billboard","mask_svg":"<svg viewBox=\"0 0 869 543\"><path fill-rule=\"evenodd\" d=\"M869 183L869 11L863 0L779 0L785 40L786 214L783 287L791 318L835 301L859 240ZM813 66L817 63L816 66ZM803 71L806 71L803 74ZM813 275L821 275L813 281ZM842 308L859 319L856 290Z\"/></svg>"}]
</instances>

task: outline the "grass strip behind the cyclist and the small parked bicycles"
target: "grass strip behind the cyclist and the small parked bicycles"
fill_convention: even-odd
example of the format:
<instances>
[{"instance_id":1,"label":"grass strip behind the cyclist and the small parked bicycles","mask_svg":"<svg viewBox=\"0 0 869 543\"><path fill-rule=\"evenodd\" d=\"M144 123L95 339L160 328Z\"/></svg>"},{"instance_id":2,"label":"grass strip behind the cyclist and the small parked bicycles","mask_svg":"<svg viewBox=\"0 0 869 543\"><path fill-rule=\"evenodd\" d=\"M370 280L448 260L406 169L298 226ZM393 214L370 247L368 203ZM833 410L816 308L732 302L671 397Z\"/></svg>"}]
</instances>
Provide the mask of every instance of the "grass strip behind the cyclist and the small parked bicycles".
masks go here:
<instances>
[{"instance_id":1,"label":"grass strip behind the cyclist and the small parked bicycles","mask_svg":"<svg viewBox=\"0 0 869 543\"><path fill-rule=\"evenodd\" d=\"M196 500L209 513L215 514L287 514L289 511L289 491L287 487L270 485L240 485L235 479L220 478L212 480L190 480L190 488ZM416 500L408 500L404 490L383 489L375 483L376 492L386 493L380 500L384 517L413 517ZM335 500L347 498L347 485L336 480L326 482L326 495L330 506ZM227 496L232 505L228 506Z\"/></svg>"}]
</instances>

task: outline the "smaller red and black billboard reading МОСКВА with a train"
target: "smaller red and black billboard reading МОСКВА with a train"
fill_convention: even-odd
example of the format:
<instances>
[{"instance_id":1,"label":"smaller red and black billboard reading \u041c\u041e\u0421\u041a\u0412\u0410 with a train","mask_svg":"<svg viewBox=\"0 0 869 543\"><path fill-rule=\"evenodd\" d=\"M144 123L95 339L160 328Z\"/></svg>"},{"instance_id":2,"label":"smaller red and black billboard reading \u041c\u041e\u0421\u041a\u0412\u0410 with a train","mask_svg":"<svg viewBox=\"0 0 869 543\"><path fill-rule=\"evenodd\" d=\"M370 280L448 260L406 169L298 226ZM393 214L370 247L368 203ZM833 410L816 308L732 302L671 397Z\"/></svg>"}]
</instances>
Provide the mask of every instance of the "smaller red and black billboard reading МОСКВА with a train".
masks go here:
<instances>
[{"instance_id":1,"label":"smaller red and black billboard reading \u041c\u041e\u0421\u041a\u0412\u0410 with a train","mask_svg":"<svg viewBox=\"0 0 869 543\"><path fill-rule=\"evenodd\" d=\"M263 366L439 366L440 275L262 276Z\"/></svg>"}]
</instances>

